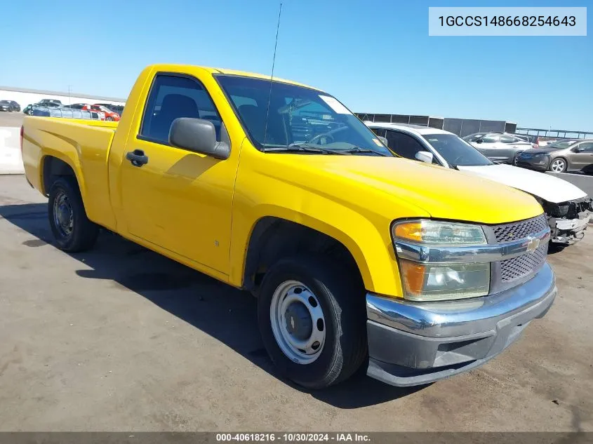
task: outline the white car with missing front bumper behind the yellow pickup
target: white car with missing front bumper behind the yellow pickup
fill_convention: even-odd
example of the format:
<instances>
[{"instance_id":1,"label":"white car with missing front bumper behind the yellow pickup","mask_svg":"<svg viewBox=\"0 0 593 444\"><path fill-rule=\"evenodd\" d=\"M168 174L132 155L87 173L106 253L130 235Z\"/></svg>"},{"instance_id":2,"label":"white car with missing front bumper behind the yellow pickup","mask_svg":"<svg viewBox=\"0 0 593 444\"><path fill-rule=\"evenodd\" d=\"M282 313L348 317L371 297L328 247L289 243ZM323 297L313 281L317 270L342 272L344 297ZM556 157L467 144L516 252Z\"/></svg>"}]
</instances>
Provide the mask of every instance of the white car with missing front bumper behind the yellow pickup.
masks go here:
<instances>
[{"instance_id":1,"label":"white car with missing front bumper behind the yellow pickup","mask_svg":"<svg viewBox=\"0 0 593 444\"><path fill-rule=\"evenodd\" d=\"M571 245L585 236L593 202L570 182L495 163L448 131L402 123L365 123L399 156L479 175L531 194L545 210L553 243Z\"/></svg>"}]
</instances>

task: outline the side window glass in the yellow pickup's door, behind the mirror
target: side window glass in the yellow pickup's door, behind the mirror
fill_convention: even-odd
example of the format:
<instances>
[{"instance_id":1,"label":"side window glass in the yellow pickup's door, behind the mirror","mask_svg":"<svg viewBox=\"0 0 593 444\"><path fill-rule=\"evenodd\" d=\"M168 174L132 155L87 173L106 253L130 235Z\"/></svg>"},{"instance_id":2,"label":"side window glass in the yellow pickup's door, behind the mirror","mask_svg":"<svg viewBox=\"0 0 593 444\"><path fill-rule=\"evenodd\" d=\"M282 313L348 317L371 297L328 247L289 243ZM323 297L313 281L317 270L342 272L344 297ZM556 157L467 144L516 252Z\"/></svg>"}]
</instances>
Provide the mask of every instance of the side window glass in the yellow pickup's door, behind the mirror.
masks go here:
<instances>
[{"instance_id":1,"label":"side window glass in the yellow pickup's door, behind the mirror","mask_svg":"<svg viewBox=\"0 0 593 444\"><path fill-rule=\"evenodd\" d=\"M169 130L175 119L192 117L214 124L220 142L222 120L204 86L196 79L157 74L148 96L140 134L162 144L169 143Z\"/></svg>"}]
</instances>

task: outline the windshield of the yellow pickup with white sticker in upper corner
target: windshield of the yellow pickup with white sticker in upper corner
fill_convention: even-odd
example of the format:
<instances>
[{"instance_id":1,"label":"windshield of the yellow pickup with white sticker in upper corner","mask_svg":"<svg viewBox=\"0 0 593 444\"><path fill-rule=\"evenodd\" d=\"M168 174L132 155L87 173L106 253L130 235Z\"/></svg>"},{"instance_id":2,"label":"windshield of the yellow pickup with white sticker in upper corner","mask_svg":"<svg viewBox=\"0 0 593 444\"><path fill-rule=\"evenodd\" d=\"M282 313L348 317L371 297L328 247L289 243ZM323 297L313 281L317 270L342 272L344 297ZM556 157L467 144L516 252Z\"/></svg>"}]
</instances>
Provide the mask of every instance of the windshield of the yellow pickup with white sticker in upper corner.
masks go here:
<instances>
[{"instance_id":1,"label":"windshield of the yellow pickup with white sticker in upper corner","mask_svg":"<svg viewBox=\"0 0 593 444\"><path fill-rule=\"evenodd\" d=\"M331 95L244 76L217 75L216 79L251 141L262 151L392 156L373 132Z\"/></svg>"}]
</instances>

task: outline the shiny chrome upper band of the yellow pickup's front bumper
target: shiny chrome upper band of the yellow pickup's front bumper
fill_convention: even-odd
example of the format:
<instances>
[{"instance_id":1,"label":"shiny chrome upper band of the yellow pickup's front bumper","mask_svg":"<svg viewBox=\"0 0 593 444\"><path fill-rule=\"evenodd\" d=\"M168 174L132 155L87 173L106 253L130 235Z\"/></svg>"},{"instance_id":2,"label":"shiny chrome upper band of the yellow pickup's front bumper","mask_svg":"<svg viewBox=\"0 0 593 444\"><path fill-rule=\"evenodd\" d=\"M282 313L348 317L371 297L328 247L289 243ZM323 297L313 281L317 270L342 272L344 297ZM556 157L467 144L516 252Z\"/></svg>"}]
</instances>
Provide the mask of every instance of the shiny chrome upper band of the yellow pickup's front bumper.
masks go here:
<instances>
[{"instance_id":1,"label":"shiny chrome upper band of the yellow pickup's front bumper","mask_svg":"<svg viewBox=\"0 0 593 444\"><path fill-rule=\"evenodd\" d=\"M544 264L526 283L495 295L446 302L409 302L366 295L369 321L427 337L471 335L495 330L509 318L557 292L554 272ZM552 297L553 299L553 297Z\"/></svg>"}]
</instances>

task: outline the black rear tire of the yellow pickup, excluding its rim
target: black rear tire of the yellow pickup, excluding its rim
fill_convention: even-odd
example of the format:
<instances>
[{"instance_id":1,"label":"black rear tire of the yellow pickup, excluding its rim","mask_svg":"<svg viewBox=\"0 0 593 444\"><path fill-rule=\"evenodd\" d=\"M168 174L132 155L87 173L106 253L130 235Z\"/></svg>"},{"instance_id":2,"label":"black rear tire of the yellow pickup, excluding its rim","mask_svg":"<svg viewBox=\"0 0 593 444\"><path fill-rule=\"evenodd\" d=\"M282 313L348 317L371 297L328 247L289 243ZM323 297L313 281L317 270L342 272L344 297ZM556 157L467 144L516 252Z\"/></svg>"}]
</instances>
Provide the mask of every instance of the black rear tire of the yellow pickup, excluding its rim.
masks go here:
<instances>
[{"instance_id":1,"label":"black rear tire of the yellow pickup, excluding its rim","mask_svg":"<svg viewBox=\"0 0 593 444\"><path fill-rule=\"evenodd\" d=\"M72 208L72 231L69 234L65 234L58 227L55 217L55 200L64 195L69 202L70 208ZM59 177L51 185L48 201L48 217L51 231L60 250L67 251L68 253L77 253L88 250L95 245L99 234L99 227L86 217L79 187L73 177Z\"/></svg>"}]
</instances>

